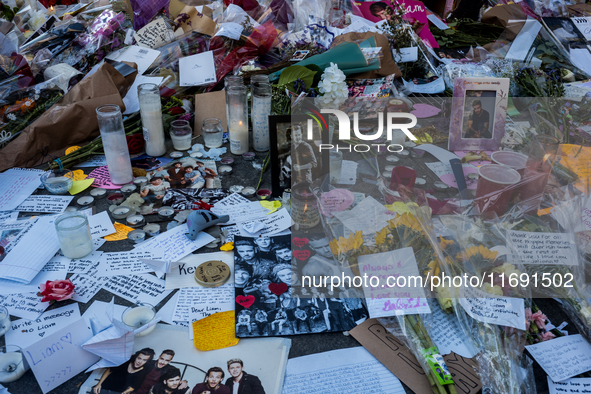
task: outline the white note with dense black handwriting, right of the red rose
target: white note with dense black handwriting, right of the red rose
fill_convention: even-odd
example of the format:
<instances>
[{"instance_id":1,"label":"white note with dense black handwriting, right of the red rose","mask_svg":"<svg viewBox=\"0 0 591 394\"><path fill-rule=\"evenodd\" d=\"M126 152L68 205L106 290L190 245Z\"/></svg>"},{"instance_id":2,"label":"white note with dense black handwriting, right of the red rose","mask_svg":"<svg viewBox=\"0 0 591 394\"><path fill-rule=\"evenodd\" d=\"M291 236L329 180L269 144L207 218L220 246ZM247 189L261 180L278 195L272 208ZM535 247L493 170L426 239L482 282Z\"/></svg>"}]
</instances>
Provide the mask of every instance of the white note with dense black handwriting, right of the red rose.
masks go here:
<instances>
[{"instance_id":1,"label":"white note with dense black handwriting, right of the red rose","mask_svg":"<svg viewBox=\"0 0 591 394\"><path fill-rule=\"evenodd\" d=\"M103 285L105 290L130 302L147 302L158 305L170 293L164 289L164 281L154 275L119 275Z\"/></svg>"}]
</instances>

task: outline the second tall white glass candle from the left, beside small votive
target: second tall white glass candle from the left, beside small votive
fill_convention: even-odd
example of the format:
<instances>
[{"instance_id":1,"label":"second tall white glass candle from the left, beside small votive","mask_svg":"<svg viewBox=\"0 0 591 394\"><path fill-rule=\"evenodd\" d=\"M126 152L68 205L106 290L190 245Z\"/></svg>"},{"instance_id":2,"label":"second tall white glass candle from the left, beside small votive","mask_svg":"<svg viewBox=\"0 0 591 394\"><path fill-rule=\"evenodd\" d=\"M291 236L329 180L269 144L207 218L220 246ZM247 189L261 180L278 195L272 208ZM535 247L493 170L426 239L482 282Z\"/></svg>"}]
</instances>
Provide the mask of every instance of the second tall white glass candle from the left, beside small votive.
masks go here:
<instances>
[{"instance_id":1,"label":"second tall white glass candle from the left, beside small votive","mask_svg":"<svg viewBox=\"0 0 591 394\"><path fill-rule=\"evenodd\" d=\"M166 145L164 144L160 90L156 84L143 83L138 86L137 92L144 140L146 140L146 154L152 157L162 156L166 153Z\"/></svg>"}]
</instances>

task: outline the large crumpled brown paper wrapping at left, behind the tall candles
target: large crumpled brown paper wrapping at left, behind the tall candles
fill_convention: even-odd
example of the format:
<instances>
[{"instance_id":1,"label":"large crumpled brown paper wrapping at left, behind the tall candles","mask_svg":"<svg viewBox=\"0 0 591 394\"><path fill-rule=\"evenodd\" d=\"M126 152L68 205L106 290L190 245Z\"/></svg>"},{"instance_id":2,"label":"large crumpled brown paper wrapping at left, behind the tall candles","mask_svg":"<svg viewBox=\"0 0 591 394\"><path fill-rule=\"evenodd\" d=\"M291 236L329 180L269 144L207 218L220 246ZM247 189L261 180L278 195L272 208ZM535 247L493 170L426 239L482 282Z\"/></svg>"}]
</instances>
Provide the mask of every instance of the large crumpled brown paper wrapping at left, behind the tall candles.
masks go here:
<instances>
[{"instance_id":1,"label":"large crumpled brown paper wrapping at left, behind the tall candles","mask_svg":"<svg viewBox=\"0 0 591 394\"><path fill-rule=\"evenodd\" d=\"M123 112L121 97L136 75L137 71L124 78L112 65L103 64L2 149L0 171L47 163L50 158L63 156L70 146L82 146L96 138L97 107L115 104Z\"/></svg>"}]
</instances>

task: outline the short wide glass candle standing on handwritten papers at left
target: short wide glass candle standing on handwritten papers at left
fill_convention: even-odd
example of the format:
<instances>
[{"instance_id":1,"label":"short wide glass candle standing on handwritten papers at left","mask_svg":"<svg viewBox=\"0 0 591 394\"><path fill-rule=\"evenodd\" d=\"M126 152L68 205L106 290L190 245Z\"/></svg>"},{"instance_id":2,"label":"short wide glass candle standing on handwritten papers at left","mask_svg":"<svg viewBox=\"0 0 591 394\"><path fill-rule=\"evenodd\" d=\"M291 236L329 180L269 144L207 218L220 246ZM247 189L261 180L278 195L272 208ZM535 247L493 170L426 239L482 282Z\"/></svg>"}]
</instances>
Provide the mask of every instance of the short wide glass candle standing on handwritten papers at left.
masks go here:
<instances>
[{"instance_id":1,"label":"short wide glass candle standing on handwritten papers at left","mask_svg":"<svg viewBox=\"0 0 591 394\"><path fill-rule=\"evenodd\" d=\"M92 237L88 217L79 212L68 212L55 220L55 230L62 254L79 259L92 252Z\"/></svg>"}]
</instances>

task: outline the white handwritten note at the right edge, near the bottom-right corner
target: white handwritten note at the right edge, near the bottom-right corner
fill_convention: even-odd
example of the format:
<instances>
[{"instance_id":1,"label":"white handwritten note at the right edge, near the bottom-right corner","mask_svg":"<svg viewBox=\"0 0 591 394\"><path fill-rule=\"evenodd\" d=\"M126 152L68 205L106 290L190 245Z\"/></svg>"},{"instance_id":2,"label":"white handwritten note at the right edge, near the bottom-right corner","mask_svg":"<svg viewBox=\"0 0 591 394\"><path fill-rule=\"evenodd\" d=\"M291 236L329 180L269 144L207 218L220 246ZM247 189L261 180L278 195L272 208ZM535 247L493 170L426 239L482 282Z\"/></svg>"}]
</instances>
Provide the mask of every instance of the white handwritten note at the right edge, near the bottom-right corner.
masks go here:
<instances>
[{"instance_id":1,"label":"white handwritten note at the right edge, near the bottom-right corner","mask_svg":"<svg viewBox=\"0 0 591 394\"><path fill-rule=\"evenodd\" d=\"M536 343L526 349L555 382L591 370L591 345L581 334Z\"/></svg>"}]
</instances>

